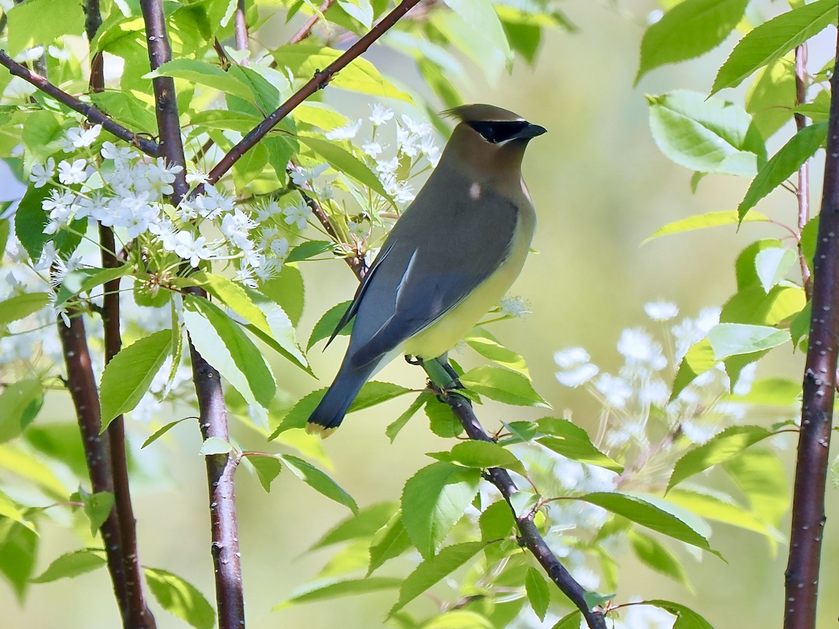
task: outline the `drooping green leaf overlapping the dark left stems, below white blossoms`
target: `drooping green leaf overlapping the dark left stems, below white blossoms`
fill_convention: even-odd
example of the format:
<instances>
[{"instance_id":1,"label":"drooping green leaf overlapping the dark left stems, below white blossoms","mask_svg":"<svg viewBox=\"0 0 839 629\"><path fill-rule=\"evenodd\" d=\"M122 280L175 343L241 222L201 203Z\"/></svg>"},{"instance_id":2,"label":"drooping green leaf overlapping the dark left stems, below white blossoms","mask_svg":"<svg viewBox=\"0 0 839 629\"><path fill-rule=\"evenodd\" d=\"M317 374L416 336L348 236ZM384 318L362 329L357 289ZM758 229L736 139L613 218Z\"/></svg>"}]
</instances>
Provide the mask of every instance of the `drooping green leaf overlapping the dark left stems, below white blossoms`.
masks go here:
<instances>
[{"instance_id":1,"label":"drooping green leaf overlapping the dark left stems, below white blossoms","mask_svg":"<svg viewBox=\"0 0 839 629\"><path fill-rule=\"evenodd\" d=\"M172 330L160 330L117 352L102 372L99 399L104 433L113 418L133 411L172 351Z\"/></svg>"}]
</instances>

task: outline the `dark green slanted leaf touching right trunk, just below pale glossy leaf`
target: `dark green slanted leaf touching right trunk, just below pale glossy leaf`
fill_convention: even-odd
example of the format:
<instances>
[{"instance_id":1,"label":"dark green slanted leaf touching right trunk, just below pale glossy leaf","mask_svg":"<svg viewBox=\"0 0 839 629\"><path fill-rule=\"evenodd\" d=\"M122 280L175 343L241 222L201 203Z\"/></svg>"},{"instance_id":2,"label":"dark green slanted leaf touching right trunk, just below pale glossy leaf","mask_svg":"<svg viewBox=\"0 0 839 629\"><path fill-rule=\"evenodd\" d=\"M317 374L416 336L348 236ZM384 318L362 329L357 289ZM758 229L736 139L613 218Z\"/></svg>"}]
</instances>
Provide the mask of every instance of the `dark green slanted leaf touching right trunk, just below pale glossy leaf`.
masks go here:
<instances>
[{"instance_id":1,"label":"dark green slanted leaf touching right trunk, just below pale glossy leaf","mask_svg":"<svg viewBox=\"0 0 839 629\"><path fill-rule=\"evenodd\" d=\"M737 205L737 216L742 220L749 210L758 205L759 200L789 179L801 164L819 150L826 138L827 122L811 124L789 138L789 142L758 170L758 175L748 186L746 196Z\"/></svg>"}]
</instances>

